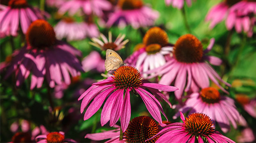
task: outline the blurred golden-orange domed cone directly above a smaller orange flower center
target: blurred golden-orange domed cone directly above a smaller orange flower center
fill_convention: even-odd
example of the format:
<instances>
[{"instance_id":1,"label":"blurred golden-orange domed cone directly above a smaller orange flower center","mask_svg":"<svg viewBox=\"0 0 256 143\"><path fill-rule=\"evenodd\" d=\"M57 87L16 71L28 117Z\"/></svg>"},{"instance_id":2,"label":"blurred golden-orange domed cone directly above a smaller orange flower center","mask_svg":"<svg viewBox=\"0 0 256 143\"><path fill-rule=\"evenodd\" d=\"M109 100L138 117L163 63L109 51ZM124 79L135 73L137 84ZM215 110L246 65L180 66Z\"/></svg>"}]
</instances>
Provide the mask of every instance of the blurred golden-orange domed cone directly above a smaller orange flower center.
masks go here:
<instances>
[{"instance_id":1,"label":"blurred golden-orange domed cone directly above a smaller orange flower center","mask_svg":"<svg viewBox=\"0 0 256 143\"><path fill-rule=\"evenodd\" d=\"M146 46L150 44L159 44L161 47L164 47L168 44L168 35L163 29L159 27L152 27L145 34L143 43Z\"/></svg>"}]
</instances>

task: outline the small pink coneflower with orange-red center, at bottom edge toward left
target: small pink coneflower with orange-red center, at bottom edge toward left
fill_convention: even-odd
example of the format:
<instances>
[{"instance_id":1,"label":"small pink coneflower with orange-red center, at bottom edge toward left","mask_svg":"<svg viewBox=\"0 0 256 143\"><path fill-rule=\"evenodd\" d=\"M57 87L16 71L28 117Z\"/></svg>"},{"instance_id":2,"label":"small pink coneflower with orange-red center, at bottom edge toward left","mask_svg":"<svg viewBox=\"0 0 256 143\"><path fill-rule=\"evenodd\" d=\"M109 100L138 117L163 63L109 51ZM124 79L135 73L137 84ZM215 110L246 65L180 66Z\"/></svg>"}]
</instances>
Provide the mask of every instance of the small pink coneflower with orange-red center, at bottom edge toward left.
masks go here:
<instances>
[{"instance_id":1,"label":"small pink coneflower with orange-red center, at bottom edge toward left","mask_svg":"<svg viewBox=\"0 0 256 143\"><path fill-rule=\"evenodd\" d=\"M36 136L36 143L76 143L73 139L66 139L64 132L50 132Z\"/></svg>"}]
</instances>

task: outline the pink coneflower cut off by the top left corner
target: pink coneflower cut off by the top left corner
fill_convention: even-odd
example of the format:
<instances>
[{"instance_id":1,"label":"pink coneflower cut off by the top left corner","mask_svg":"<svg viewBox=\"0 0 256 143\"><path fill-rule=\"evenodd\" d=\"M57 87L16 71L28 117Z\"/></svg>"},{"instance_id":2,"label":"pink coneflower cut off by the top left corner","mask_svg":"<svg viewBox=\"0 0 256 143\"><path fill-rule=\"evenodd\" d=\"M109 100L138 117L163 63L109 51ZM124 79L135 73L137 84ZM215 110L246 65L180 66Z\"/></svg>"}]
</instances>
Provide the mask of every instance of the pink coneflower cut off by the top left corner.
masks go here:
<instances>
[{"instance_id":1,"label":"pink coneflower cut off by the top left corner","mask_svg":"<svg viewBox=\"0 0 256 143\"><path fill-rule=\"evenodd\" d=\"M20 27L25 34L31 22L43 19L39 9L30 7L27 0L10 0L8 7L0 11L0 33L17 36Z\"/></svg>"}]
</instances>

